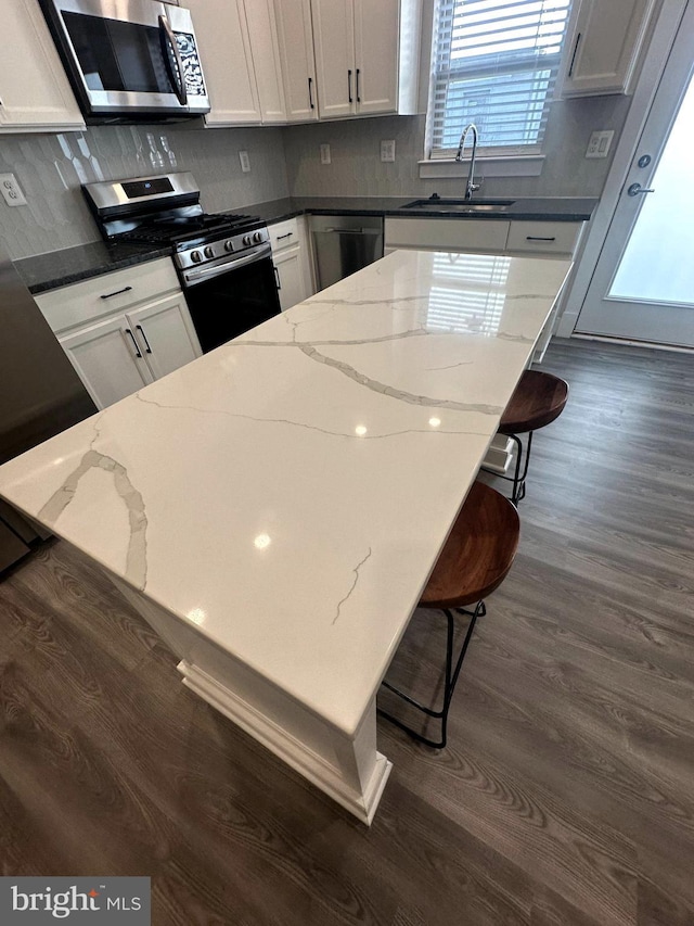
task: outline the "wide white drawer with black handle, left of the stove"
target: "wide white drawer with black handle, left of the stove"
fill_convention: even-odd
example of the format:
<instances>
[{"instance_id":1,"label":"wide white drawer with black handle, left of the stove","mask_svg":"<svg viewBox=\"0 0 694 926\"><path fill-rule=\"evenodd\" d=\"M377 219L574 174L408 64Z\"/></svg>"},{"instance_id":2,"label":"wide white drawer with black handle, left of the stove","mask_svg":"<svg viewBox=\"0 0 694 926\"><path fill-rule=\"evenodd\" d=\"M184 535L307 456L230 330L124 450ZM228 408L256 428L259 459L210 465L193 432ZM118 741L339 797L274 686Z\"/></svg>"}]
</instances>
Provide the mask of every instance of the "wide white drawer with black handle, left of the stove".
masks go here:
<instances>
[{"instance_id":1,"label":"wide white drawer with black handle, left of the stove","mask_svg":"<svg viewBox=\"0 0 694 926\"><path fill-rule=\"evenodd\" d=\"M170 257L159 257L35 296L54 332L179 290Z\"/></svg>"}]
</instances>

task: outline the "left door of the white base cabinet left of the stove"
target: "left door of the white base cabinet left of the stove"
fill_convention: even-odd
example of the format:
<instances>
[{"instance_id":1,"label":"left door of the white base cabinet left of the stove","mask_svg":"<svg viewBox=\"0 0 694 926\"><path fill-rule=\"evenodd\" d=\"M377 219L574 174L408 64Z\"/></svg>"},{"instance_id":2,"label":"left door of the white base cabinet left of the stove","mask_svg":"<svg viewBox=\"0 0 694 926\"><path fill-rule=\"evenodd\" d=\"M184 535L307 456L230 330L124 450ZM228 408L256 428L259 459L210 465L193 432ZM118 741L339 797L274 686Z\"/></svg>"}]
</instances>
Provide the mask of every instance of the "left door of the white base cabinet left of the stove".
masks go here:
<instances>
[{"instance_id":1,"label":"left door of the white base cabinet left of the stove","mask_svg":"<svg viewBox=\"0 0 694 926\"><path fill-rule=\"evenodd\" d=\"M59 341L99 408L152 382L125 315L89 325Z\"/></svg>"}]
</instances>

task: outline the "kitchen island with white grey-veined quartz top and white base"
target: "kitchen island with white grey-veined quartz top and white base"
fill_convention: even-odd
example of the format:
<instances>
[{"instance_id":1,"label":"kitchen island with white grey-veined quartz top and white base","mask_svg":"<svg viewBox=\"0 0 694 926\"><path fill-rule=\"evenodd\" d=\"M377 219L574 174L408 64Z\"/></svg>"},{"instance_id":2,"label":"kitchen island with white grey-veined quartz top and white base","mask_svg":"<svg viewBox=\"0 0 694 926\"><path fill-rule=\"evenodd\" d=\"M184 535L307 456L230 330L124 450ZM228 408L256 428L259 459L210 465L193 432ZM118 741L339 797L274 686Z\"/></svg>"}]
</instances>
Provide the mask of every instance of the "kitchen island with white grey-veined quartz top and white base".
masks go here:
<instances>
[{"instance_id":1,"label":"kitchen island with white grey-veined quartz top and white base","mask_svg":"<svg viewBox=\"0 0 694 926\"><path fill-rule=\"evenodd\" d=\"M569 266L395 252L7 464L0 496L370 823L376 692Z\"/></svg>"}]
</instances>

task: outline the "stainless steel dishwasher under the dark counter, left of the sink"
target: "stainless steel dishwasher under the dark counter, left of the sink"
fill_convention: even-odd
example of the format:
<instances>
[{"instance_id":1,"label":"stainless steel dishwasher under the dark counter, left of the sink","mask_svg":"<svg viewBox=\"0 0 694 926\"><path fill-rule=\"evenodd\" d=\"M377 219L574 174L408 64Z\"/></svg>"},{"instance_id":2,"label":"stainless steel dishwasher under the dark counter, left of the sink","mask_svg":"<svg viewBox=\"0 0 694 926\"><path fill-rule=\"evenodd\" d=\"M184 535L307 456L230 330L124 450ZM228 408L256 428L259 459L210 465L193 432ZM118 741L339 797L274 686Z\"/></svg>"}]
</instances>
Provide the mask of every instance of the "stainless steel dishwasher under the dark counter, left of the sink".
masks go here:
<instances>
[{"instance_id":1,"label":"stainless steel dishwasher under the dark counter, left of the sink","mask_svg":"<svg viewBox=\"0 0 694 926\"><path fill-rule=\"evenodd\" d=\"M381 216L312 215L310 228L319 290L383 257Z\"/></svg>"}]
</instances>

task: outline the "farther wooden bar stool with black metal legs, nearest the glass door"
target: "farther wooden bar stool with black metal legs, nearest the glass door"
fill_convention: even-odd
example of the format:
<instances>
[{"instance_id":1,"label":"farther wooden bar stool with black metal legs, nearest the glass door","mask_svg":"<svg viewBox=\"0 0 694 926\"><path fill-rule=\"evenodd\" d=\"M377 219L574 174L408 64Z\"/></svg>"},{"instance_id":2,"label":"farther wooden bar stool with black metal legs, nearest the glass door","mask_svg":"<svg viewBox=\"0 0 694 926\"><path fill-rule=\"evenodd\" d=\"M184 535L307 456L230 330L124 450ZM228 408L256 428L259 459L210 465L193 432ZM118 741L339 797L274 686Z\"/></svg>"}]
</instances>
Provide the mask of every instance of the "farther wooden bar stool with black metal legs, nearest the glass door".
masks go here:
<instances>
[{"instance_id":1,"label":"farther wooden bar stool with black metal legs, nearest the glass door","mask_svg":"<svg viewBox=\"0 0 694 926\"><path fill-rule=\"evenodd\" d=\"M551 424L555 418L558 418L564 410L567 398L568 383L553 373L526 370L520 377L499 424L499 433L511 437L516 445L514 474L499 477L499 479L513 482L511 500L514 505L525 498L525 480L530 461L532 433L538 428L544 428L545 424ZM523 441L518 434L526 433L528 443L524 454ZM522 464L523 472L520 472Z\"/></svg>"}]
</instances>

